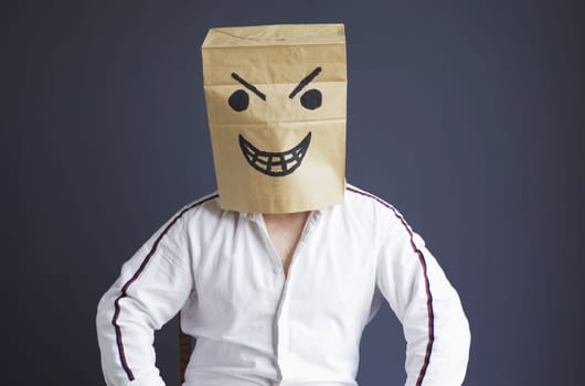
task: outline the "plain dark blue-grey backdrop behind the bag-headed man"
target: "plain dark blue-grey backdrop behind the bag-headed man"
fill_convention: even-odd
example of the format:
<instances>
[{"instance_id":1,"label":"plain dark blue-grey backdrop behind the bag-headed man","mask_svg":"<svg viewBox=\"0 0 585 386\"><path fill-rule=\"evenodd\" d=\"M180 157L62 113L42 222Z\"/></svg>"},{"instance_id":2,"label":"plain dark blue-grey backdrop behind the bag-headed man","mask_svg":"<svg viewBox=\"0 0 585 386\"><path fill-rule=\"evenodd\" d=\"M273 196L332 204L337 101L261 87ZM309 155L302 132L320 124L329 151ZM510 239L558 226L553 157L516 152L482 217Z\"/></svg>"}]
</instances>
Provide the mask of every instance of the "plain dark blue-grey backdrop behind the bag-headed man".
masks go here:
<instances>
[{"instance_id":1,"label":"plain dark blue-grey backdrop behind the bag-headed man","mask_svg":"<svg viewBox=\"0 0 585 386\"><path fill-rule=\"evenodd\" d=\"M459 291L466 384L585 384L577 2L2 8L2 384L103 384L99 297L166 219L215 190L206 30L285 22L345 23L348 180L395 204ZM156 346L176 385L174 321ZM402 385L404 351L386 307L364 333L360 383Z\"/></svg>"}]
</instances>

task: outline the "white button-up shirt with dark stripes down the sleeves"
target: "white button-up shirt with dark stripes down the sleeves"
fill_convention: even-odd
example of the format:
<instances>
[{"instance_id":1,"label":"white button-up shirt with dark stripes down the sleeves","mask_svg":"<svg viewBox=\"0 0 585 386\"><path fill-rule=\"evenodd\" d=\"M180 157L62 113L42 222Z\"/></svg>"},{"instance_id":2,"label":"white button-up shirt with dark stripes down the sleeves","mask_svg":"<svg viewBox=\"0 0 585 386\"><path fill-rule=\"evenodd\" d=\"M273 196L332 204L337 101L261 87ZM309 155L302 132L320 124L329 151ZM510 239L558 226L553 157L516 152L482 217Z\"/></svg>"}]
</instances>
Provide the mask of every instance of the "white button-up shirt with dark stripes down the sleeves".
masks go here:
<instances>
[{"instance_id":1,"label":"white button-up shirt with dark stripes down the sleeves","mask_svg":"<svg viewBox=\"0 0 585 386\"><path fill-rule=\"evenodd\" d=\"M164 385L153 330L181 310L196 337L185 386L355 386L362 331L384 299L404 326L406 385L460 385L459 297L393 206L348 185L343 204L311 213L285 278L263 216L210 195L155 233L102 298L104 376Z\"/></svg>"}]
</instances>

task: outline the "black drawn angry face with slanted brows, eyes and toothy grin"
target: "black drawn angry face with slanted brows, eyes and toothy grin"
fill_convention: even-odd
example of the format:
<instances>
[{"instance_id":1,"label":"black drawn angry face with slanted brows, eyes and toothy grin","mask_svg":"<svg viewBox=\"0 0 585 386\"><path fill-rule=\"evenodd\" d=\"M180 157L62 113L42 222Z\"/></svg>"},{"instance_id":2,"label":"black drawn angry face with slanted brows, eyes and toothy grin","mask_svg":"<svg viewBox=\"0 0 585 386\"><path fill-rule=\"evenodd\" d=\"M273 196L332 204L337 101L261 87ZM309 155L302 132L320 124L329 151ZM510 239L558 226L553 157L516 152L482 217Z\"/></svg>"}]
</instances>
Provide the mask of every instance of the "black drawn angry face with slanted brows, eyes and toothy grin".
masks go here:
<instances>
[{"instance_id":1,"label":"black drawn angry face with slanted brows, eyes and toothy grin","mask_svg":"<svg viewBox=\"0 0 585 386\"><path fill-rule=\"evenodd\" d=\"M321 67L315 68L309 75L307 75L302 81L299 82L297 87L288 95L289 99L294 99L295 96L300 93L319 73ZM240 82L245 88L254 93L258 98L266 100L266 94L260 92L256 86L244 81L236 73L232 73L232 77ZM305 92L300 97L300 105L309 110L315 110L321 107L322 95L321 92L317 88L311 88ZM248 108L249 96L244 89L235 90L230 98L227 104L235 111L244 111ZM258 149L252 142L246 140L246 138L240 133L238 135L240 150L242 154L248 162L248 164L256 169L258 172L270 175L270 176L284 176L292 173L297 170L305 154L309 150L311 143L311 132L307 133L305 138L291 149L280 151L280 152L270 152Z\"/></svg>"}]
</instances>

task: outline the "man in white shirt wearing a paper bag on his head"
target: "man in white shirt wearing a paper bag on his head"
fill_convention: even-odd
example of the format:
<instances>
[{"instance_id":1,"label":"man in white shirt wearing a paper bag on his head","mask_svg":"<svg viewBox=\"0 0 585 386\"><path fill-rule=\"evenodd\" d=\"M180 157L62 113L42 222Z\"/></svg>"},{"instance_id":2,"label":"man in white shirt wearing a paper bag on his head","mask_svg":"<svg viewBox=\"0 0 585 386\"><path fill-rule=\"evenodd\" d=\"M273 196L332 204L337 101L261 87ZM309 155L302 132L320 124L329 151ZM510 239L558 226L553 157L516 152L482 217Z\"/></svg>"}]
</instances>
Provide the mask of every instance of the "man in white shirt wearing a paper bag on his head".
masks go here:
<instances>
[{"instance_id":1,"label":"man in white shirt wearing a paper bag on his head","mask_svg":"<svg viewBox=\"0 0 585 386\"><path fill-rule=\"evenodd\" d=\"M343 25L212 29L202 50L219 193L171 217L102 298L106 383L164 385L153 330L181 310L196 337L184 385L357 385L385 299L406 385L460 385L456 291L393 206L344 181Z\"/></svg>"}]
</instances>

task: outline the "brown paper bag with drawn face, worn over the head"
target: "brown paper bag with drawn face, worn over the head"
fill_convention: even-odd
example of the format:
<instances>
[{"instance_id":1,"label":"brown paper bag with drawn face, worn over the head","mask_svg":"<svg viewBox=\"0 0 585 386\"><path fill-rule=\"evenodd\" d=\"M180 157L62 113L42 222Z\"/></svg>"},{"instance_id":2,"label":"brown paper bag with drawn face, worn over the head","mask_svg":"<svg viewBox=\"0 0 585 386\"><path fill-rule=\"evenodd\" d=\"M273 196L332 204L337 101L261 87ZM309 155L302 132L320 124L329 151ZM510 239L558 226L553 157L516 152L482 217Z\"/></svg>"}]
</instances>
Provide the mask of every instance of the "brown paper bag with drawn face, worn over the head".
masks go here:
<instances>
[{"instance_id":1,"label":"brown paper bag with drawn face, worn over the head","mask_svg":"<svg viewBox=\"0 0 585 386\"><path fill-rule=\"evenodd\" d=\"M343 201L343 24L211 29L203 83L220 205L291 213Z\"/></svg>"}]
</instances>

